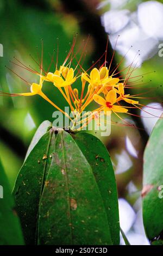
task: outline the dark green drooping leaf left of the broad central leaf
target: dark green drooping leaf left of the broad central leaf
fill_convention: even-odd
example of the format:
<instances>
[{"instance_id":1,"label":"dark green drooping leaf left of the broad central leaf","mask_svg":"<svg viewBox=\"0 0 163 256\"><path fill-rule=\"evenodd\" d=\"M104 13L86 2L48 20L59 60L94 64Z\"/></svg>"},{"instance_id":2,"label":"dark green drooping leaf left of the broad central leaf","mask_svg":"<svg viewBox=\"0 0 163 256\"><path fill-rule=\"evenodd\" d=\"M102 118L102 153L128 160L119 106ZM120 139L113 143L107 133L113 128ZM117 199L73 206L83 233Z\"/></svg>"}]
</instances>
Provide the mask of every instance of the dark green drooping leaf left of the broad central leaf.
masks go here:
<instances>
[{"instance_id":1,"label":"dark green drooping leaf left of the broad central leaf","mask_svg":"<svg viewBox=\"0 0 163 256\"><path fill-rule=\"evenodd\" d=\"M55 146L53 129L35 145L17 176L14 197L26 244L37 241L39 202Z\"/></svg>"}]
</instances>

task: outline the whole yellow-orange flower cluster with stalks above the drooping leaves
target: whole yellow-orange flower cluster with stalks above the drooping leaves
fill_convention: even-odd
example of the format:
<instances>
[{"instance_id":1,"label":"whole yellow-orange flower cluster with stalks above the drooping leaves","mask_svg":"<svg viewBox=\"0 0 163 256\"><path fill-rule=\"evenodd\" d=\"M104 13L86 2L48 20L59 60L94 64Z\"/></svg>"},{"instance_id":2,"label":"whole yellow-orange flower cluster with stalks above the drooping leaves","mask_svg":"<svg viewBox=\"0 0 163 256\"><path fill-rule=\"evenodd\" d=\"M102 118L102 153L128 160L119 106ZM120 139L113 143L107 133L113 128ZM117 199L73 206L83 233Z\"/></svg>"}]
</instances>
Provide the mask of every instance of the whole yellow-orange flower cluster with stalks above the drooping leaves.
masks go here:
<instances>
[{"instance_id":1,"label":"whole yellow-orange flower cluster with stalks above the drooping leaves","mask_svg":"<svg viewBox=\"0 0 163 256\"><path fill-rule=\"evenodd\" d=\"M72 54L72 50L68 53L68 57L70 54ZM40 82L29 84L30 93L18 93L12 94L11 96L40 95L67 116L67 113L42 92L43 82L47 81L53 83L54 86L59 89L70 106L72 113L78 112L82 114L84 109L91 102L95 101L98 103L99 106L93 109L91 118L94 113L101 111L106 115L110 115L111 113L127 113L128 109L131 107L130 105L134 105L134 107L139 105L139 101L133 99L134 96L125 94L125 80L113 77L114 73L112 75L110 74L110 70L106 67L106 62L99 69L92 67L89 74L80 66L82 74L78 75L78 73L75 74L77 67L75 69L71 67L72 61L66 65L68 57L59 69L56 67L54 72L44 72L44 75L42 74L43 69L41 64L40 73L35 72L35 74L40 77ZM74 88L74 84L77 80L81 82L80 93L77 88ZM122 106L122 102L127 102L130 105L127 106L125 103L125 106ZM70 116L68 116L68 118L70 118ZM89 123L89 118L86 120L86 124L87 123Z\"/></svg>"}]
</instances>

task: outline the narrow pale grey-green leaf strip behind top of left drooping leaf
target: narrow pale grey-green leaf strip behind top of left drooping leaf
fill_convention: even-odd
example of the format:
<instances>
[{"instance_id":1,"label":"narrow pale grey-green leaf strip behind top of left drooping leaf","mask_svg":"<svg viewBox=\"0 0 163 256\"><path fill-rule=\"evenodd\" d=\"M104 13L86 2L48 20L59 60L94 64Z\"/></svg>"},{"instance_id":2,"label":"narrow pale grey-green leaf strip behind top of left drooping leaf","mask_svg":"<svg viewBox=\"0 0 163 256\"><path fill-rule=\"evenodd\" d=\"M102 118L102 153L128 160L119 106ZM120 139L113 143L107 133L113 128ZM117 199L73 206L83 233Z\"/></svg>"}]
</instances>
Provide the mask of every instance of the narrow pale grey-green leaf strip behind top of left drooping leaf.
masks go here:
<instances>
[{"instance_id":1,"label":"narrow pale grey-green leaf strip behind top of left drooping leaf","mask_svg":"<svg viewBox=\"0 0 163 256\"><path fill-rule=\"evenodd\" d=\"M39 142L40 138L47 132L48 130L48 127L51 127L52 126L52 123L48 120L46 121L43 121L39 128L37 129L37 131L35 132L35 135L29 145L29 148L27 150L27 154L26 154L26 157L25 157L25 160L27 159L27 157L29 156L30 152L33 150L33 148L35 147L35 145Z\"/></svg>"}]
</instances>

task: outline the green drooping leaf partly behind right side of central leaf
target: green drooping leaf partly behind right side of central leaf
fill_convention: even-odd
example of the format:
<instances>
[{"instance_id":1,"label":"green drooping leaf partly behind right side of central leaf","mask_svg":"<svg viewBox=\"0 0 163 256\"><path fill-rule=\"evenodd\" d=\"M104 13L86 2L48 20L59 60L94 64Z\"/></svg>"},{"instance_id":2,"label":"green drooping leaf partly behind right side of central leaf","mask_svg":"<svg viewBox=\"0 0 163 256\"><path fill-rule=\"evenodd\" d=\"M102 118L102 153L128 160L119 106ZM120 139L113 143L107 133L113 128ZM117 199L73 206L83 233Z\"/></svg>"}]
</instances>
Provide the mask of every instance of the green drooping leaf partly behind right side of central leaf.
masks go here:
<instances>
[{"instance_id":1,"label":"green drooping leaf partly behind right side of central leaf","mask_svg":"<svg viewBox=\"0 0 163 256\"><path fill-rule=\"evenodd\" d=\"M114 245L119 245L117 186L108 150L97 137L90 133L79 132L73 137L93 170L108 216L112 241Z\"/></svg>"}]
</instances>

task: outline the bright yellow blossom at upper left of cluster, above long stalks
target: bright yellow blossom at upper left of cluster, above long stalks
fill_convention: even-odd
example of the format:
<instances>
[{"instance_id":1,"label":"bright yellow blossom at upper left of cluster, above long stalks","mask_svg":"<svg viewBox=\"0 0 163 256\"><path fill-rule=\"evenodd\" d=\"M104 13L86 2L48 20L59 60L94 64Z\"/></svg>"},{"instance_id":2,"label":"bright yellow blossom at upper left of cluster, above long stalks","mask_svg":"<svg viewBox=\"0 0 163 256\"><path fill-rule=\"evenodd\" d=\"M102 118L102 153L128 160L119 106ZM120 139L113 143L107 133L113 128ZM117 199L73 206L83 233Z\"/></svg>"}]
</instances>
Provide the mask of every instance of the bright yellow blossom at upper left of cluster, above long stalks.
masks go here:
<instances>
[{"instance_id":1,"label":"bright yellow blossom at upper left of cluster, above long stalks","mask_svg":"<svg viewBox=\"0 0 163 256\"><path fill-rule=\"evenodd\" d=\"M73 68L67 68L66 66L60 66L59 70L55 70L54 74L48 72L46 81L53 82L56 87L67 87L76 81L74 77Z\"/></svg>"}]
</instances>

